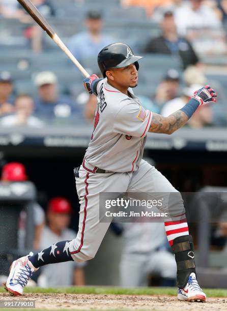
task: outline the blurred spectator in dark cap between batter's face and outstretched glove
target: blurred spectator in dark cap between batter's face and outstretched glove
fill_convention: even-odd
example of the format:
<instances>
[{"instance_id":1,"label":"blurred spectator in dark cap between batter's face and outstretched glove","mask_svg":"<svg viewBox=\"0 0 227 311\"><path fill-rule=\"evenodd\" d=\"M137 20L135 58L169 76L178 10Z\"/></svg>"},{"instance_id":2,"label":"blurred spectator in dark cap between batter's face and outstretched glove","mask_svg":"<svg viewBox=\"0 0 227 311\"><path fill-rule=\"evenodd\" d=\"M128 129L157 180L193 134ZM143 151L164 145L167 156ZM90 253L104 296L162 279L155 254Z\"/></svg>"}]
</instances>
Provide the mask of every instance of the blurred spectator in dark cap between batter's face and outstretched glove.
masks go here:
<instances>
[{"instance_id":1,"label":"blurred spectator in dark cap between batter's face and outstretched glove","mask_svg":"<svg viewBox=\"0 0 227 311\"><path fill-rule=\"evenodd\" d=\"M173 100L178 96L179 85L179 73L175 69L169 69L164 79L159 83L154 98L152 98L152 101L158 107L159 112L166 102Z\"/></svg>"}]
</instances>

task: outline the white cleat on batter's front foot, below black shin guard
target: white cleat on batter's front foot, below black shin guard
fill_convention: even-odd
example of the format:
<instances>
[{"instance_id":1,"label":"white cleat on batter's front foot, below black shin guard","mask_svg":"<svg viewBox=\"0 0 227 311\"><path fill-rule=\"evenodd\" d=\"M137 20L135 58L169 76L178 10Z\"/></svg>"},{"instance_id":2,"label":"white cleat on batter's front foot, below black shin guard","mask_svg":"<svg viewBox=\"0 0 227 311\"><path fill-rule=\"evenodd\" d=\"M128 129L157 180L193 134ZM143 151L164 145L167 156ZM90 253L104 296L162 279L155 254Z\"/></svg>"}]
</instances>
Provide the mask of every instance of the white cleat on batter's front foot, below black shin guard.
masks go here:
<instances>
[{"instance_id":1,"label":"white cleat on batter's front foot, below black shin guard","mask_svg":"<svg viewBox=\"0 0 227 311\"><path fill-rule=\"evenodd\" d=\"M177 298L185 301L206 302L207 296L198 285L195 273L188 277L188 283L183 289L178 289Z\"/></svg>"}]
</instances>

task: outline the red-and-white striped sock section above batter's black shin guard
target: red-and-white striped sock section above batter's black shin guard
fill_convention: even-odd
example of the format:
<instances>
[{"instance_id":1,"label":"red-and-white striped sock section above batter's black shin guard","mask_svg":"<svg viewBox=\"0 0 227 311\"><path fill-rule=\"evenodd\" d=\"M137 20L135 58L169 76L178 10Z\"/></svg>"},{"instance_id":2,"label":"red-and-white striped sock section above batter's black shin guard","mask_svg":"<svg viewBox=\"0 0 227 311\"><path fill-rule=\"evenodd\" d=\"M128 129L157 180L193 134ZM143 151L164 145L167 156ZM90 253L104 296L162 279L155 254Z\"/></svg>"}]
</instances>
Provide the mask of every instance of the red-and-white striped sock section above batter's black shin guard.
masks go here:
<instances>
[{"instance_id":1,"label":"red-and-white striped sock section above batter's black shin guard","mask_svg":"<svg viewBox=\"0 0 227 311\"><path fill-rule=\"evenodd\" d=\"M165 233L169 245L172 246L176 237L189 235L187 220L183 219L175 222L165 222Z\"/></svg>"}]
</instances>

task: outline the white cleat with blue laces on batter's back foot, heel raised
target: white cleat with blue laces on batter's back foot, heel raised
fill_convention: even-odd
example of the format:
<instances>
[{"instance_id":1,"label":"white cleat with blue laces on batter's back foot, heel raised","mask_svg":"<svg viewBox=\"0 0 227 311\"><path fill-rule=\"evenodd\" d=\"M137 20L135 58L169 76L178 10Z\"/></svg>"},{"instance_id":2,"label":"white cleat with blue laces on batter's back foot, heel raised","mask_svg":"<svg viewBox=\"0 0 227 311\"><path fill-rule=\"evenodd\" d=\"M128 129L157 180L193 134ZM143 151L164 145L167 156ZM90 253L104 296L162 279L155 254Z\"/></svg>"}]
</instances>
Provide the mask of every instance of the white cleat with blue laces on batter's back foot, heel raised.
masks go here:
<instances>
[{"instance_id":1,"label":"white cleat with blue laces on batter's back foot, heel raised","mask_svg":"<svg viewBox=\"0 0 227 311\"><path fill-rule=\"evenodd\" d=\"M33 253L15 260L10 267L5 289L13 296L23 294L23 289L32 277L33 272L39 269L35 268L29 261L30 256L33 256Z\"/></svg>"}]
</instances>

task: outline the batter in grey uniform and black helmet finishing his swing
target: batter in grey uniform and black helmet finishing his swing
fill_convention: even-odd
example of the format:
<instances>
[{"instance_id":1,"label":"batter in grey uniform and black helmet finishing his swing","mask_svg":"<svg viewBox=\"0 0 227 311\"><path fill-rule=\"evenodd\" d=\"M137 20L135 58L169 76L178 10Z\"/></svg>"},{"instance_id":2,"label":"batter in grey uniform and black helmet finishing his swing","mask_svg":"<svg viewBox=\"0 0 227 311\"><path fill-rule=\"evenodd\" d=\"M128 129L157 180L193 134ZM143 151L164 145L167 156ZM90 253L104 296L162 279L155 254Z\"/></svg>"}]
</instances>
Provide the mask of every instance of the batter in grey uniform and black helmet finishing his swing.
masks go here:
<instances>
[{"instance_id":1,"label":"batter in grey uniform and black helmet finishing his swing","mask_svg":"<svg viewBox=\"0 0 227 311\"><path fill-rule=\"evenodd\" d=\"M109 223L99 221L100 193L179 194L155 167L142 160L146 136L148 132L174 133L198 107L216 102L217 95L205 86L196 91L182 109L168 117L145 110L132 91L138 81L140 58L126 44L110 44L98 55L103 78L92 75L84 80L84 86L98 97L99 104L89 147L82 165L75 171L80 202L77 236L14 261L6 283L6 289L12 294L22 295L32 273L41 266L94 258L109 227ZM178 197L179 205L183 206L180 194ZM196 281L194 247L186 219L167 221L164 225L177 263L178 299L206 301Z\"/></svg>"}]
</instances>

